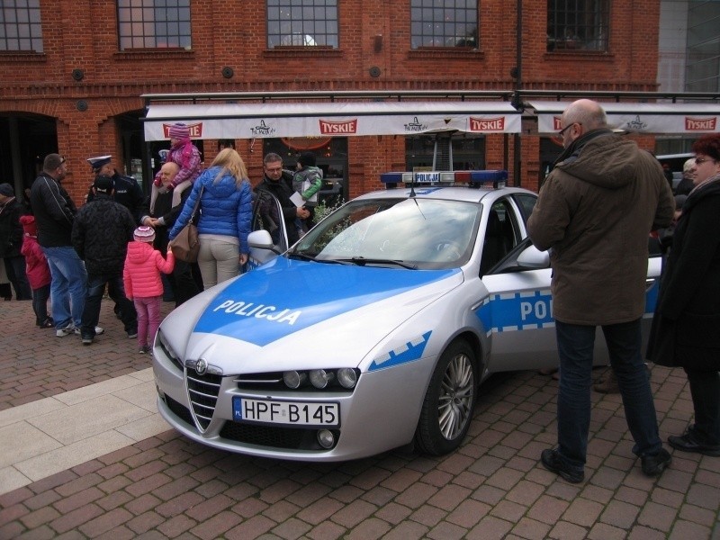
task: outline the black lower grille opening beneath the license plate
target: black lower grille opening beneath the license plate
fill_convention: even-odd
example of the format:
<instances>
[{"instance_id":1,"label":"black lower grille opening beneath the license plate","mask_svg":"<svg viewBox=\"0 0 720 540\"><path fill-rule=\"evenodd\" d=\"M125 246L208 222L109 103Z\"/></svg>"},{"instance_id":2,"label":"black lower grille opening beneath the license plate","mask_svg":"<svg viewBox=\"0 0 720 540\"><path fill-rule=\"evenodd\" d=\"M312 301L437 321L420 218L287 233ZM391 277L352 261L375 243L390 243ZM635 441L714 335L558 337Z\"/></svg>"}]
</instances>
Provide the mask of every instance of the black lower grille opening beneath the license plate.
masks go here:
<instances>
[{"instance_id":1,"label":"black lower grille opening beneath the license plate","mask_svg":"<svg viewBox=\"0 0 720 540\"><path fill-rule=\"evenodd\" d=\"M256 426L243 422L225 422L220 437L248 445L288 450L323 450L318 444L318 429ZM333 430L338 440L340 432Z\"/></svg>"}]
</instances>

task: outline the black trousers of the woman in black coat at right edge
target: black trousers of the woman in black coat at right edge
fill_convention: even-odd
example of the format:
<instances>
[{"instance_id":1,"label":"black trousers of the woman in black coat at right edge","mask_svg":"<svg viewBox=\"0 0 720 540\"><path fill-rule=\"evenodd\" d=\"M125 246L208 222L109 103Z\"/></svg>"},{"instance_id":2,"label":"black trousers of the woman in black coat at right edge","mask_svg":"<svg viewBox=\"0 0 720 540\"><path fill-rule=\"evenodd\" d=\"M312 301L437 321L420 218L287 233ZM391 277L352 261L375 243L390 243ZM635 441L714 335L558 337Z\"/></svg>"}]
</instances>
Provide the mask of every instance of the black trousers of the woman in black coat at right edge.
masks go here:
<instances>
[{"instance_id":1,"label":"black trousers of the woman in black coat at right edge","mask_svg":"<svg viewBox=\"0 0 720 540\"><path fill-rule=\"evenodd\" d=\"M707 445L720 445L720 372L685 369L695 409L694 433Z\"/></svg>"}]
</instances>

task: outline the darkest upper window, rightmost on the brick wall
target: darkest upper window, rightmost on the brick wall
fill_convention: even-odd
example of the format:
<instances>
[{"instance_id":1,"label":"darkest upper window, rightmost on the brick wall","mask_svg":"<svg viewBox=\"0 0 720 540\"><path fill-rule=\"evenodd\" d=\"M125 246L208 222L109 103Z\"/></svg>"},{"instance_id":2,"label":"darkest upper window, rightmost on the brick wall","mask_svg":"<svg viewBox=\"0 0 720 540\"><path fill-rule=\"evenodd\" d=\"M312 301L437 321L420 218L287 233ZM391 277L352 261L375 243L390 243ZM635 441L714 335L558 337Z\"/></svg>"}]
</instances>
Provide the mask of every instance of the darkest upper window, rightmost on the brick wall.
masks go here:
<instances>
[{"instance_id":1,"label":"darkest upper window, rightmost on the brick wall","mask_svg":"<svg viewBox=\"0 0 720 540\"><path fill-rule=\"evenodd\" d=\"M548 0L547 51L607 51L609 4L609 0Z\"/></svg>"}]
</instances>

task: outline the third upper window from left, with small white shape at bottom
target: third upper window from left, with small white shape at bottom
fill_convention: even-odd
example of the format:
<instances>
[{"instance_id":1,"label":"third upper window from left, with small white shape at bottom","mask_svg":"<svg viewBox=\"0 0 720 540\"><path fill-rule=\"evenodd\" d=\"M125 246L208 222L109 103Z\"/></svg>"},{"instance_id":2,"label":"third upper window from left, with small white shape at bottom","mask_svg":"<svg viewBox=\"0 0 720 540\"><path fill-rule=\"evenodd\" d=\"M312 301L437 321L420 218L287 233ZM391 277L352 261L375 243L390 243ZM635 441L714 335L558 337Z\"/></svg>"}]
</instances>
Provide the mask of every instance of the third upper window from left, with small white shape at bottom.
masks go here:
<instances>
[{"instance_id":1,"label":"third upper window from left, with small white shape at bottom","mask_svg":"<svg viewBox=\"0 0 720 540\"><path fill-rule=\"evenodd\" d=\"M337 0L267 0L267 48L338 49Z\"/></svg>"}]
</instances>

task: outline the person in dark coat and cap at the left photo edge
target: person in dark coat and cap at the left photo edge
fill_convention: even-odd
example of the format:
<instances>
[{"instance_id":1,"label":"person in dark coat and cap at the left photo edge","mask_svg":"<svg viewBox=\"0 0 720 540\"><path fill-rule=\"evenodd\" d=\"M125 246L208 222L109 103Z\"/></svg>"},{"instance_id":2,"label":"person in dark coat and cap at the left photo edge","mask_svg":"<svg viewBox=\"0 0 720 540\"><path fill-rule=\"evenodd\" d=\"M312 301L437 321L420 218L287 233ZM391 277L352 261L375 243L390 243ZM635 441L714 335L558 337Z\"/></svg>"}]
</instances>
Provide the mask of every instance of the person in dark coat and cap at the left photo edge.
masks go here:
<instances>
[{"instance_id":1,"label":"person in dark coat and cap at the left photo edge","mask_svg":"<svg viewBox=\"0 0 720 540\"><path fill-rule=\"evenodd\" d=\"M25 213L10 184L0 184L0 257L3 258L7 279L13 284L17 300L32 300L32 292L25 275L23 226L20 216Z\"/></svg>"}]
</instances>

